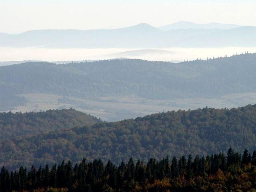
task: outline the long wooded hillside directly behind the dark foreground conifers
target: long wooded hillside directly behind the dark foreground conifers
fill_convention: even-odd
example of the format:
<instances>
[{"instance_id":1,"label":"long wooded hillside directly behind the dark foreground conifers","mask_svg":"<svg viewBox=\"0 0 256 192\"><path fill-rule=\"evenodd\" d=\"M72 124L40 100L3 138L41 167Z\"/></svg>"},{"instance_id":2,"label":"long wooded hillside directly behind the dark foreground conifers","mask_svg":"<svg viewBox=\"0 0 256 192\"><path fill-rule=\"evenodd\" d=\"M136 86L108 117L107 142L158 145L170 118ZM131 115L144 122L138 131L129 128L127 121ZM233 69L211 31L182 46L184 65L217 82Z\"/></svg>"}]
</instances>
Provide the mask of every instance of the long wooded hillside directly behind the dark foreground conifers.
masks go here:
<instances>
[{"instance_id":1,"label":"long wooded hillside directly behind the dark foreground conifers","mask_svg":"<svg viewBox=\"0 0 256 192\"><path fill-rule=\"evenodd\" d=\"M256 105L179 110L1 140L0 165L39 166L68 159L77 162L83 157L121 162L131 156L146 162L166 155L226 152L229 147L252 151L255 140Z\"/></svg>"}]
</instances>

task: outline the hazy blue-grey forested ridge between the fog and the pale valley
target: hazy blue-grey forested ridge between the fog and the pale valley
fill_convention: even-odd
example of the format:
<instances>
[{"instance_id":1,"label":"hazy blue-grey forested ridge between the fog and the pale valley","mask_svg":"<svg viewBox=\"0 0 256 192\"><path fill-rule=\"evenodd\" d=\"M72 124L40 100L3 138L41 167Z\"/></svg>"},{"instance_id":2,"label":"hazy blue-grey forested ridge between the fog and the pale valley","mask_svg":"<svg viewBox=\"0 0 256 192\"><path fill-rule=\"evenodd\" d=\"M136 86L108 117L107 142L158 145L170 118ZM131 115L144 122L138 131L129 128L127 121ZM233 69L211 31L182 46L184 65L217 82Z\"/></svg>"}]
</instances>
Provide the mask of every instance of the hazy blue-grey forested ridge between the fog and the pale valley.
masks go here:
<instances>
[{"instance_id":1,"label":"hazy blue-grey forested ridge between the fog and the pale valley","mask_svg":"<svg viewBox=\"0 0 256 192\"><path fill-rule=\"evenodd\" d=\"M0 67L0 110L22 105L17 94L77 98L135 94L148 99L212 98L255 92L256 54L178 64L138 59L56 65L28 62Z\"/></svg>"}]
</instances>

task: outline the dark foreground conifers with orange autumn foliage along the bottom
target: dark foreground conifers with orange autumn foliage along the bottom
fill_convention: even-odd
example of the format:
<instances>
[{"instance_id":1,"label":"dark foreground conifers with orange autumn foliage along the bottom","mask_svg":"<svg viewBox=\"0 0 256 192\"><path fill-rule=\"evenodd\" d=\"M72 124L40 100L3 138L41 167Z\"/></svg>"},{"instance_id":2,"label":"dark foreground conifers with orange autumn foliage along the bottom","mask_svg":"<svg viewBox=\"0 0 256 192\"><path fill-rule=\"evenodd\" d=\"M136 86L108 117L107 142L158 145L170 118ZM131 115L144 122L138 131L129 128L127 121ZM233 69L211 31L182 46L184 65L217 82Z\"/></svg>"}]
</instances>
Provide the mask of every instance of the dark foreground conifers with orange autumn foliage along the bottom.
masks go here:
<instances>
[{"instance_id":1,"label":"dark foreground conifers with orange autumn foliage along the bottom","mask_svg":"<svg viewBox=\"0 0 256 192\"><path fill-rule=\"evenodd\" d=\"M72 165L71 161L54 164L52 168L29 170L21 166L8 171L2 167L0 190L8 191L255 191L256 151L241 155L231 148L223 153L192 158L168 156L145 164L133 158L118 166L110 160L104 165L100 159Z\"/></svg>"}]
</instances>

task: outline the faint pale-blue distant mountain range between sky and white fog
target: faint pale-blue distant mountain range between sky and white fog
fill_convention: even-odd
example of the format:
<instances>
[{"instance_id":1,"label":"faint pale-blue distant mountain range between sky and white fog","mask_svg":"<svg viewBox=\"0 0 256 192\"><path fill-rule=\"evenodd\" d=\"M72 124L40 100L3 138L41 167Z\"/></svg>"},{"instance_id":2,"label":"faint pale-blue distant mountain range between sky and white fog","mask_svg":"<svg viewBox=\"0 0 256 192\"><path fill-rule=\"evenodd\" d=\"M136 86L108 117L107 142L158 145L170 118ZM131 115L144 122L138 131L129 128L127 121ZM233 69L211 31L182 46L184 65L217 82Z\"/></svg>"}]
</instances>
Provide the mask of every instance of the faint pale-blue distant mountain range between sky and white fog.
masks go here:
<instances>
[{"instance_id":1,"label":"faint pale-blue distant mountain range between sky and white fog","mask_svg":"<svg viewBox=\"0 0 256 192\"><path fill-rule=\"evenodd\" d=\"M32 30L0 33L0 46L45 48L168 48L256 46L256 27L178 22L156 28L146 23L119 29Z\"/></svg>"}]
</instances>

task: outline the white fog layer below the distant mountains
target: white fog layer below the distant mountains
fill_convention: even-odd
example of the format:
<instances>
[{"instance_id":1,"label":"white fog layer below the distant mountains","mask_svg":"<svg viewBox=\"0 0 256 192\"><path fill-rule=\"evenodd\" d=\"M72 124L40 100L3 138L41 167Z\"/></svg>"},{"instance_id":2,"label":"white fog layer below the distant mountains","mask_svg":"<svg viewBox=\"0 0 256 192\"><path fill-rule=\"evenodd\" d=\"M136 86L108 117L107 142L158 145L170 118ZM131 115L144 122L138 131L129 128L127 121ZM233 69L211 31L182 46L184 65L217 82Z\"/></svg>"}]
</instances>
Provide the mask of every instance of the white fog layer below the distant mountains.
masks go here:
<instances>
[{"instance_id":1,"label":"white fog layer below the distant mountains","mask_svg":"<svg viewBox=\"0 0 256 192\"><path fill-rule=\"evenodd\" d=\"M244 52L256 52L256 47L224 48L168 48L168 49L84 49L84 48L6 48L0 47L0 64L3 61L82 61L112 58L139 58L153 61L184 61L206 59L207 57L232 56Z\"/></svg>"}]
</instances>

